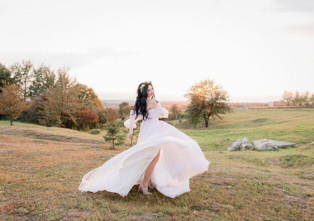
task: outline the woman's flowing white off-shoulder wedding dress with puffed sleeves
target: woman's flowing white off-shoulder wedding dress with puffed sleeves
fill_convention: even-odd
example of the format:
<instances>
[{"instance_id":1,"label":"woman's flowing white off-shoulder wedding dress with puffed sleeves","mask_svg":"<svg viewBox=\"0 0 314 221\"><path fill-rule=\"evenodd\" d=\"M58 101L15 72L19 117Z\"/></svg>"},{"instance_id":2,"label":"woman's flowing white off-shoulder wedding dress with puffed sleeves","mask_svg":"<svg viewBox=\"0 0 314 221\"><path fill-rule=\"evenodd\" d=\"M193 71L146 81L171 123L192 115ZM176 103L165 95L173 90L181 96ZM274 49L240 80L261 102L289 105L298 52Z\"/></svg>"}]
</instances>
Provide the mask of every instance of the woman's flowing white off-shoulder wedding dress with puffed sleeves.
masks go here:
<instances>
[{"instance_id":1,"label":"woman's flowing white off-shoulder wedding dress with puffed sleeves","mask_svg":"<svg viewBox=\"0 0 314 221\"><path fill-rule=\"evenodd\" d=\"M132 132L136 122L142 120L136 114L124 122ZM106 190L127 195L133 185L139 184L152 159L160 152L160 158L151 175L156 189L169 197L190 191L189 179L208 170L210 162L198 143L177 128L159 118L168 118L169 111L161 103L148 109L148 119L143 120L137 144L117 154L103 165L86 173L79 186L80 191Z\"/></svg>"}]
</instances>

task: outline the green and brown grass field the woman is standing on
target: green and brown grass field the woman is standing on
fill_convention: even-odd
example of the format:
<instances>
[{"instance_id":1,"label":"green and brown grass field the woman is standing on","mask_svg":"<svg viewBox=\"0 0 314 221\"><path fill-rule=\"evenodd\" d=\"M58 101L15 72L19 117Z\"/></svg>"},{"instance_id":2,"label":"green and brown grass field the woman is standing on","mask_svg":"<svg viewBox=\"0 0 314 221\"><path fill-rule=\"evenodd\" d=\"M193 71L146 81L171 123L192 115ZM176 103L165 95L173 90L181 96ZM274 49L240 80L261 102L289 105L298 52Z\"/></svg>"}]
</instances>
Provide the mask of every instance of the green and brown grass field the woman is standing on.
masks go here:
<instances>
[{"instance_id":1,"label":"green and brown grass field the woman is standing on","mask_svg":"<svg viewBox=\"0 0 314 221\"><path fill-rule=\"evenodd\" d=\"M175 199L78 191L81 177L128 147L102 135L0 121L0 220L313 220L314 109L241 110L191 129L210 169ZM239 138L297 145L279 151L227 152Z\"/></svg>"}]
</instances>

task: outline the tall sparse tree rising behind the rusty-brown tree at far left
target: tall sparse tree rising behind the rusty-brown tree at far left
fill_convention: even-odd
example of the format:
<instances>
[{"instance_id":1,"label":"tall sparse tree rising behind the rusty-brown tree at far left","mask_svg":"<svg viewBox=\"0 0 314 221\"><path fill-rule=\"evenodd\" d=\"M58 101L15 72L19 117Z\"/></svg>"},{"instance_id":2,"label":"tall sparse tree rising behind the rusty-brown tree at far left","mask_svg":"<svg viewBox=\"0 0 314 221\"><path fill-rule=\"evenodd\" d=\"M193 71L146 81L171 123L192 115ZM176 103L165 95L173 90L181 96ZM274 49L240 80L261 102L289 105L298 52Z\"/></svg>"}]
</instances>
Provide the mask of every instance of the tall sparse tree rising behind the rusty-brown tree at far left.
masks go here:
<instances>
[{"instance_id":1,"label":"tall sparse tree rising behind the rusty-brown tree at far left","mask_svg":"<svg viewBox=\"0 0 314 221\"><path fill-rule=\"evenodd\" d=\"M24 101L30 95L30 84L32 81L33 64L31 61L22 61L22 64L15 63L10 67L14 75L14 82L23 89Z\"/></svg>"}]
</instances>

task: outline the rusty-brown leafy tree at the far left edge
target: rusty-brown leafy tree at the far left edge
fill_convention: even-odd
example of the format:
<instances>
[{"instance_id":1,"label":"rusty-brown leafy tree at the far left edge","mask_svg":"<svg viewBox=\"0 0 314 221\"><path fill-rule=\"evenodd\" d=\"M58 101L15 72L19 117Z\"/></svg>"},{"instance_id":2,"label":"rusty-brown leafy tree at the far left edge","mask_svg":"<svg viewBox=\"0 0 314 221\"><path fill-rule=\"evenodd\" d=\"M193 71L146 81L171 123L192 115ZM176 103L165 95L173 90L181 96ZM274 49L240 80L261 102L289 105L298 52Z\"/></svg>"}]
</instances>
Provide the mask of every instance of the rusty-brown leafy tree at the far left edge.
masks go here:
<instances>
[{"instance_id":1,"label":"rusty-brown leafy tree at the far left edge","mask_svg":"<svg viewBox=\"0 0 314 221\"><path fill-rule=\"evenodd\" d=\"M5 86L0 94L0 114L7 115L10 125L13 126L13 121L28 108L28 104L24 101L23 91L17 85L3 84Z\"/></svg>"}]
</instances>

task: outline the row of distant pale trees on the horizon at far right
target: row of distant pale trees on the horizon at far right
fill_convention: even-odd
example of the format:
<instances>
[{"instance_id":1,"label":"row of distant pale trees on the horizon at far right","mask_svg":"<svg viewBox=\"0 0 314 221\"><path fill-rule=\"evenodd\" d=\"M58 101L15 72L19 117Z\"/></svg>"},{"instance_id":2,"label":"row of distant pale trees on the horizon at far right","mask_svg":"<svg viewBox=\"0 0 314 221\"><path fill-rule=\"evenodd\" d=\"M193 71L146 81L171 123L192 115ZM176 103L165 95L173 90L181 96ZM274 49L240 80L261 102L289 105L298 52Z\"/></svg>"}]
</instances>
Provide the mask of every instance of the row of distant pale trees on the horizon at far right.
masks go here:
<instances>
[{"instance_id":1,"label":"row of distant pale trees on the horizon at far right","mask_svg":"<svg viewBox=\"0 0 314 221\"><path fill-rule=\"evenodd\" d=\"M281 102L287 106L290 105L313 105L314 104L314 93L309 91L299 92L295 91L284 91L282 94Z\"/></svg>"}]
</instances>

